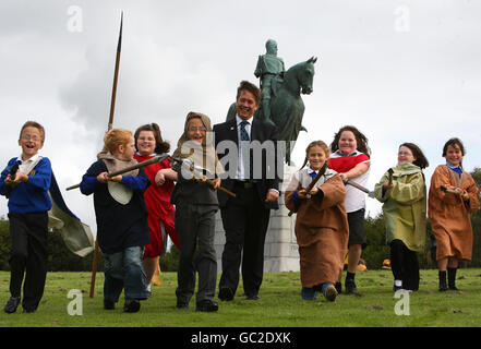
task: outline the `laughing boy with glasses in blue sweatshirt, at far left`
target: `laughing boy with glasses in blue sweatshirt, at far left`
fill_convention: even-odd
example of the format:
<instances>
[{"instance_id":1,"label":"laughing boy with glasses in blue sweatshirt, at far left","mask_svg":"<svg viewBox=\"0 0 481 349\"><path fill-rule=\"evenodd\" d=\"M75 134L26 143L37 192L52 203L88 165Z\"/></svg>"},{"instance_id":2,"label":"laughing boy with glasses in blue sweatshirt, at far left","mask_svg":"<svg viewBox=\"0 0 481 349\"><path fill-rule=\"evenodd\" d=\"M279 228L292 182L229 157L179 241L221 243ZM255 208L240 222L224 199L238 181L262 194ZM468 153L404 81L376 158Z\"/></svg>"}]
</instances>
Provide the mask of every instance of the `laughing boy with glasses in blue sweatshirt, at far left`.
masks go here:
<instances>
[{"instance_id":1,"label":"laughing boy with glasses in blue sweatshirt, at far left","mask_svg":"<svg viewBox=\"0 0 481 349\"><path fill-rule=\"evenodd\" d=\"M51 181L50 160L38 151L45 142L45 129L27 121L20 132L22 154L10 159L1 172L0 194L9 200L10 293L5 313L14 313L21 302L24 313L37 310L47 277L48 210L51 208L48 190ZM12 168L17 166L17 171ZM24 281L25 275L25 281Z\"/></svg>"}]
</instances>

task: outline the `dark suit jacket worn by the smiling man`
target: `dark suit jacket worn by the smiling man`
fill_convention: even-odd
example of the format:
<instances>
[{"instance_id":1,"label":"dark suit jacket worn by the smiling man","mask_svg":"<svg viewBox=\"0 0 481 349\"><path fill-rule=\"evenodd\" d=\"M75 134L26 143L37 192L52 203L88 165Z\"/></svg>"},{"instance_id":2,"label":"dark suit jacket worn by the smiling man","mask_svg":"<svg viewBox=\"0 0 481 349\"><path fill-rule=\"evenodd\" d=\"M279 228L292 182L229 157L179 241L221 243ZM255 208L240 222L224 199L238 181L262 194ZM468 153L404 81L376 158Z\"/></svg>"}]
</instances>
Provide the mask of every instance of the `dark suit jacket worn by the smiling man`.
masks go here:
<instances>
[{"instance_id":1,"label":"dark suit jacket worn by the smiling man","mask_svg":"<svg viewBox=\"0 0 481 349\"><path fill-rule=\"evenodd\" d=\"M236 119L232 119L232 120L229 120L229 121L226 121L223 123L215 124L213 131L215 133L215 144L216 144L216 149L217 149L217 156L218 156L219 160L224 164L224 161L221 159L223 159L223 157L229 155L229 151L226 151L226 153L220 154L220 153L218 153L219 149L217 148L217 145L223 141L232 141L237 145L236 151L239 149L239 136L238 136L238 130L237 130L237 121L236 121ZM262 144L265 141L273 141L274 147L276 151L275 152L276 156L275 156L274 160L272 158L267 159L266 152L264 149L262 153L262 164L258 164L258 163L253 164L255 171L257 171L258 166L262 166L262 178L256 180L255 188L257 189L258 196L263 201L264 206L269 209L278 209L279 208L279 204L277 201L274 203L265 203L264 202L269 189L279 190L279 173L277 171L277 167L278 167L277 161L282 161L282 159L277 157L277 140L278 140L278 132L277 132L277 128L275 125L264 123L264 122L254 118L254 120L252 121L252 127L251 127L251 142L258 141ZM231 149L231 151L233 151L233 149ZM251 151L251 156L252 156L252 151ZM229 158L237 159L237 154L236 154L236 156L230 155ZM276 164L274 166L274 168L272 168L273 164ZM232 161L230 161L230 163L228 161L228 163L224 164L224 166L225 166L226 172L229 172L230 166L236 166L236 168L237 168L237 161L236 161L236 164L232 164ZM267 166L269 167L270 171L267 171ZM272 174L273 171L275 173L274 176ZM228 178L223 179L221 185L225 186L226 189L232 191L233 185L235 185L235 180L236 180L236 178L231 178L229 176ZM220 207L224 207L228 203L229 200L235 200L235 198L226 195L221 191L217 191L217 196L219 200Z\"/></svg>"}]
</instances>

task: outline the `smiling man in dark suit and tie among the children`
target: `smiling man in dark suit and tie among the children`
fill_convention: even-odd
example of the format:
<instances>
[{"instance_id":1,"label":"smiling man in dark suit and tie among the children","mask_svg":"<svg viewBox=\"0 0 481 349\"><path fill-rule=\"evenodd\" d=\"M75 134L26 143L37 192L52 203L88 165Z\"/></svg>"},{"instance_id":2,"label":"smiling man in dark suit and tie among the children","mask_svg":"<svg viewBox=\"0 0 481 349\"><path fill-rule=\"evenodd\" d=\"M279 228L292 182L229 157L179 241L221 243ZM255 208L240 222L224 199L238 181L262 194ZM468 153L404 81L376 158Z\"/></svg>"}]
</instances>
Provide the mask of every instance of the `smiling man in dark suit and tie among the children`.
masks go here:
<instances>
[{"instance_id":1,"label":"smiling man in dark suit and tie among the children","mask_svg":"<svg viewBox=\"0 0 481 349\"><path fill-rule=\"evenodd\" d=\"M270 209L279 208L277 129L253 118L260 99L257 86L241 82L236 98L236 118L214 125L217 155L229 173L221 185L237 194L237 197L229 197L218 192L226 232L218 294L224 301L233 300L241 262L245 296L258 300ZM217 147L218 144L229 142L229 152L220 154L225 147ZM228 161L223 161L225 156L228 156Z\"/></svg>"}]
</instances>

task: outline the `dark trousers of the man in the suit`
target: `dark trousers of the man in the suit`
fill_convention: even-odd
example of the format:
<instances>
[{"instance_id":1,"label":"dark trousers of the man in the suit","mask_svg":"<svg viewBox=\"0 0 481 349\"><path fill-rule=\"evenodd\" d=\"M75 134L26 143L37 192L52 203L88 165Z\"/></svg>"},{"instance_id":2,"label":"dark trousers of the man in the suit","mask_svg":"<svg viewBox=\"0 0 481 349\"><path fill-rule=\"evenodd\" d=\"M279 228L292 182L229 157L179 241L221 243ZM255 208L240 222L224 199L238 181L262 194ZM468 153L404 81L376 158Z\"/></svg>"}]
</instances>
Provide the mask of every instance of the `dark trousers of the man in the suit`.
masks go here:
<instances>
[{"instance_id":1,"label":"dark trousers of the man in the suit","mask_svg":"<svg viewBox=\"0 0 481 349\"><path fill-rule=\"evenodd\" d=\"M245 294L257 294L264 274L264 242L270 210L265 208L255 188L235 186L236 198L221 208L226 244L223 252L223 275L219 289L239 286L242 262L242 282Z\"/></svg>"}]
</instances>

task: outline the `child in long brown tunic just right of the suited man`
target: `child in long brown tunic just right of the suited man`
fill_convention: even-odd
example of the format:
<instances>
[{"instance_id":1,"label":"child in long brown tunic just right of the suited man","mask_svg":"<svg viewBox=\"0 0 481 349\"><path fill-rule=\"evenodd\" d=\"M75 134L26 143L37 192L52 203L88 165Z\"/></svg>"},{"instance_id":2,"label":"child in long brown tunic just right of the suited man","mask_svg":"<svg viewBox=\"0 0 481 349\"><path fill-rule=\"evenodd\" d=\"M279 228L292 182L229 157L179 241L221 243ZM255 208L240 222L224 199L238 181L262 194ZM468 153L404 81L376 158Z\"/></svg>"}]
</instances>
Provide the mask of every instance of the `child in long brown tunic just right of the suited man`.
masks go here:
<instances>
[{"instance_id":1,"label":"child in long brown tunic just right of the suited man","mask_svg":"<svg viewBox=\"0 0 481 349\"><path fill-rule=\"evenodd\" d=\"M322 291L327 300L337 297L337 281L347 253L349 226L344 205L346 188L340 176L324 165L329 148L322 141L312 142L302 168L292 176L286 190L286 206L297 212L296 237L299 244L302 298L315 299ZM309 167L303 168L309 161ZM306 186L325 171L312 190Z\"/></svg>"}]
</instances>

